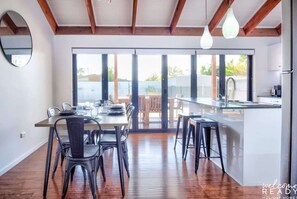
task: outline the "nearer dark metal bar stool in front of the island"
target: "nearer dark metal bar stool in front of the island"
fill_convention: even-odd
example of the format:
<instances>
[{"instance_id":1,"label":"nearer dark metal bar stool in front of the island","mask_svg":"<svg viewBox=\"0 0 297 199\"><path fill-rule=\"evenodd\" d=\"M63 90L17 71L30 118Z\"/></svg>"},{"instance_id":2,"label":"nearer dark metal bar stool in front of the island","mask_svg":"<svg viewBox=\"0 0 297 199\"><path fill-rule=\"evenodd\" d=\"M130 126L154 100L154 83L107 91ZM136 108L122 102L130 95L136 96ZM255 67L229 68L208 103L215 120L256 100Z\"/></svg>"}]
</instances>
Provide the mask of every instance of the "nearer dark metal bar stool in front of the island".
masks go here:
<instances>
[{"instance_id":1,"label":"nearer dark metal bar stool in front of the island","mask_svg":"<svg viewBox=\"0 0 297 199\"><path fill-rule=\"evenodd\" d=\"M214 121L209 118L201 117L201 118L191 118L189 120L190 123L190 130L194 132L195 137L195 173L197 173L199 167L199 159L200 159L200 149L201 149L201 142L203 139L203 130L205 134L206 140L206 157L209 158L220 158L222 171L225 173L224 164L223 164L223 155L222 155L222 148L221 148L221 140L220 140L220 132L219 132L219 125L217 121ZM219 156L210 157L210 133L211 130L215 130L218 149L219 149ZM190 135L190 133L189 133ZM188 145L188 143L187 143ZM188 147L188 146L186 146Z\"/></svg>"}]
</instances>

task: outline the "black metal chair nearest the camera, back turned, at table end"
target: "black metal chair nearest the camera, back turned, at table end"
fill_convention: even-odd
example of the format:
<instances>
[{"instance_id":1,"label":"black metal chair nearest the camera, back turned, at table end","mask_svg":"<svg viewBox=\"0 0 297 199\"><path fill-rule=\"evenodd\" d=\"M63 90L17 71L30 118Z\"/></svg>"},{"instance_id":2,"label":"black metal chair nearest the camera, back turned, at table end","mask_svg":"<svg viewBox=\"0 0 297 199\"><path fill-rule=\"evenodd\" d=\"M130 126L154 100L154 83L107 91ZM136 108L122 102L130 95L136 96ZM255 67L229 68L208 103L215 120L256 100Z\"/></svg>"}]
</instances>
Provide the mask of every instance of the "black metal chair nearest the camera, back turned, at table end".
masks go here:
<instances>
[{"instance_id":1,"label":"black metal chair nearest the camera, back turned, at table end","mask_svg":"<svg viewBox=\"0 0 297 199\"><path fill-rule=\"evenodd\" d=\"M101 126L97 120L86 116L68 116L58 119L55 122L54 130L62 148L63 142L61 140L59 131L62 124L67 126L69 137L69 148L63 149L62 153L66 158L65 177L63 185L62 198L66 196L68 189L69 177L75 166L80 165L85 168L88 173L89 184L91 187L93 198L96 198L96 176L101 167L102 175L105 180L105 171L103 167L102 148L100 147L100 136L96 138L97 144L85 144L84 131L87 126L86 123L93 123L95 125L98 135L101 134ZM92 127L93 129L93 127Z\"/></svg>"}]
</instances>

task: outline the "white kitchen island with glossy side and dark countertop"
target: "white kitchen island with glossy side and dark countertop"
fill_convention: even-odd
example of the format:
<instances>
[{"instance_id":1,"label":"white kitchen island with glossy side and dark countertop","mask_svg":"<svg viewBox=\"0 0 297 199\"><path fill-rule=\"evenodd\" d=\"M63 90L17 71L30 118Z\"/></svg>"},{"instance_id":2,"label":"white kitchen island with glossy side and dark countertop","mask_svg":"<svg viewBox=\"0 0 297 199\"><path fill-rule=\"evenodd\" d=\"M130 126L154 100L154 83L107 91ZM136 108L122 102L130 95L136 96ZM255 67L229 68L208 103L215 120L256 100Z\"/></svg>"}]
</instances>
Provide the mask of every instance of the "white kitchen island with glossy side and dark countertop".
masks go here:
<instances>
[{"instance_id":1,"label":"white kitchen island with glossy side and dark countertop","mask_svg":"<svg viewBox=\"0 0 297 199\"><path fill-rule=\"evenodd\" d=\"M178 99L189 103L190 112L219 122L228 175L248 186L280 182L280 105L241 101L226 104L210 98ZM216 142L211 142L211 148L218 151ZM219 159L212 161L220 167Z\"/></svg>"}]
</instances>

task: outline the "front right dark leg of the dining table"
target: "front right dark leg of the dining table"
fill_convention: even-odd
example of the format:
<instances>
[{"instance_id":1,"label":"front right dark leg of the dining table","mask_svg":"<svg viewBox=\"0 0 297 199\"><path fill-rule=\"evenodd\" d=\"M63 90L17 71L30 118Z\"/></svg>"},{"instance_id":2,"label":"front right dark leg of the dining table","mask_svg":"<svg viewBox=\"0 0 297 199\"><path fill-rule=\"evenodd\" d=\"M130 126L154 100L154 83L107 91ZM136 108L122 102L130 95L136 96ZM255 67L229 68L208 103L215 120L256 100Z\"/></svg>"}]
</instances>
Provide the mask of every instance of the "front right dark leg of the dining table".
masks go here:
<instances>
[{"instance_id":1,"label":"front right dark leg of the dining table","mask_svg":"<svg viewBox=\"0 0 297 199\"><path fill-rule=\"evenodd\" d=\"M125 196L125 184L124 184L123 162L122 162L123 149L122 149L122 146L121 146L121 127L116 126L115 127L115 132L116 132L116 141L117 141L118 164L119 164L119 173L120 173L122 196Z\"/></svg>"}]
</instances>

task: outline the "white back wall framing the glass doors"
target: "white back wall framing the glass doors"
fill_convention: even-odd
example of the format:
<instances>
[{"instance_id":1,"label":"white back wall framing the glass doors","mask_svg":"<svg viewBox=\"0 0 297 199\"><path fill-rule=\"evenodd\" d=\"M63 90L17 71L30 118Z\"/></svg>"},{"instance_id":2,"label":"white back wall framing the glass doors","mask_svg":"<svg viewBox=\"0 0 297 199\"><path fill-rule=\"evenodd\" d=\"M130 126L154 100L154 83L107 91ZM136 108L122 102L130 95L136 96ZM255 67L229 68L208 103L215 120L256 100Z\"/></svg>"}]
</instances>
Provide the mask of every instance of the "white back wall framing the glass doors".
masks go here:
<instances>
[{"instance_id":1,"label":"white back wall framing the glass doors","mask_svg":"<svg viewBox=\"0 0 297 199\"><path fill-rule=\"evenodd\" d=\"M72 47L98 48L200 48L200 37L185 36L55 36L54 103L72 102ZM239 37L231 40L214 38L213 48L255 49L254 99L278 84L279 72L267 70L268 45L280 38Z\"/></svg>"}]
</instances>

